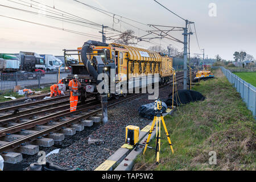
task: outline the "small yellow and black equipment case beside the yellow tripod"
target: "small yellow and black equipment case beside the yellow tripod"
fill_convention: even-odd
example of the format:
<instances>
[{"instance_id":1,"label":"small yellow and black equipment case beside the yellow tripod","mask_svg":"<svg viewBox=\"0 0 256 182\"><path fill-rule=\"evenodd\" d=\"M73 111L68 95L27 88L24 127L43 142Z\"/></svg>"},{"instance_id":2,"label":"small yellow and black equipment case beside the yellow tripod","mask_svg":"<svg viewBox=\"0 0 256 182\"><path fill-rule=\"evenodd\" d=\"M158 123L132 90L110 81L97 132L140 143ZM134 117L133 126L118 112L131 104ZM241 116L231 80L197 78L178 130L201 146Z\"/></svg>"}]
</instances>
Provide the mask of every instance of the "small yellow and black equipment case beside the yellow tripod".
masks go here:
<instances>
[{"instance_id":1,"label":"small yellow and black equipment case beside the yellow tripod","mask_svg":"<svg viewBox=\"0 0 256 182\"><path fill-rule=\"evenodd\" d=\"M139 142L139 127L129 125L125 128L125 143L135 146Z\"/></svg>"}]
</instances>

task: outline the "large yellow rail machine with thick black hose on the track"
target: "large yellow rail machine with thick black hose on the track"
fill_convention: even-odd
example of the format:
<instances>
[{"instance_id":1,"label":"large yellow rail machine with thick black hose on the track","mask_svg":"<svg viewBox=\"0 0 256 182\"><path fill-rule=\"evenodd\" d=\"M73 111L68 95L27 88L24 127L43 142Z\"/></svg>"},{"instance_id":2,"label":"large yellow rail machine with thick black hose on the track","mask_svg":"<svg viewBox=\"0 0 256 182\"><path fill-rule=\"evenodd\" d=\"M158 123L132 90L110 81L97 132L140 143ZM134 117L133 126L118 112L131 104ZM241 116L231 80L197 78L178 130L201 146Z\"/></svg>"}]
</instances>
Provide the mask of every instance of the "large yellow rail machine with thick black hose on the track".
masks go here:
<instances>
[{"instance_id":1,"label":"large yellow rail machine with thick black hose on the track","mask_svg":"<svg viewBox=\"0 0 256 182\"><path fill-rule=\"evenodd\" d=\"M147 49L88 40L82 47L63 51L65 63L67 63L67 56L77 55L79 58L79 64L69 65L72 74L68 75L65 84L68 84L73 75L79 76L82 85L79 90L81 93L79 99L82 102L86 97L100 99L100 94L97 92L99 83L97 78L100 73L106 73L109 76L108 98L116 99L119 96L126 97L127 92L123 92L124 89L129 90L138 86L143 88L149 84L154 85L156 81L159 85L166 84L173 74L172 57ZM112 70L111 74L110 70ZM154 79L155 76L158 76L158 79ZM110 86L110 82L115 86Z\"/></svg>"}]
</instances>

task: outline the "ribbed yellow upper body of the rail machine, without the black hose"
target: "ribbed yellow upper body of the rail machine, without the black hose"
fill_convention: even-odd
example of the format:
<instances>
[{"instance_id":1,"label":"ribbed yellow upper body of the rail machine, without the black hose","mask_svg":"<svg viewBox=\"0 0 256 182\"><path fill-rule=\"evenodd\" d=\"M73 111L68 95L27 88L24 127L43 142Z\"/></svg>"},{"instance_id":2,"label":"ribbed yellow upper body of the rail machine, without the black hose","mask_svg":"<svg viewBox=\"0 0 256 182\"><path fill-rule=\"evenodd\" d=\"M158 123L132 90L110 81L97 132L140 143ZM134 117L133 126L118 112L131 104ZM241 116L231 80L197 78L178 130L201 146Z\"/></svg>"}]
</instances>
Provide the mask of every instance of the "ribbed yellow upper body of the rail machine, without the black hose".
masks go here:
<instances>
[{"instance_id":1,"label":"ribbed yellow upper body of the rail machine, without the black hose","mask_svg":"<svg viewBox=\"0 0 256 182\"><path fill-rule=\"evenodd\" d=\"M107 59L117 64L116 82L154 74L159 74L162 78L173 74L170 69L173 64L172 57L160 55L158 52L112 43L108 47L93 46L93 53L101 53L99 51L102 49L106 49ZM81 51L81 47L77 51ZM79 64L83 64L80 55Z\"/></svg>"}]
</instances>

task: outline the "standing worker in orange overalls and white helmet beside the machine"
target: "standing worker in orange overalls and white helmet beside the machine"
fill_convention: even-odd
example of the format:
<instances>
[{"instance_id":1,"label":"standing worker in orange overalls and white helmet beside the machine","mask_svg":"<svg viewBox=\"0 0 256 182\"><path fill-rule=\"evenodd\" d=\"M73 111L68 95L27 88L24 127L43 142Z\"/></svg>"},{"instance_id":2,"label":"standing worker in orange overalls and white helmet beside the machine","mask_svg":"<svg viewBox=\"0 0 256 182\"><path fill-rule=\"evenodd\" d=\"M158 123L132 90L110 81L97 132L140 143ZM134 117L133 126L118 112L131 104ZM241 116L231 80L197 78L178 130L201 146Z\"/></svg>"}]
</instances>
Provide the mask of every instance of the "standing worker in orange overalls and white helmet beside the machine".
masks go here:
<instances>
[{"instance_id":1,"label":"standing worker in orange overalls and white helmet beside the machine","mask_svg":"<svg viewBox=\"0 0 256 182\"><path fill-rule=\"evenodd\" d=\"M68 87L70 90L70 111L76 111L76 106L78 102L78 96L73 96L73 93L77 93L78 89L81 87L81 83L77 80L79 77L74 75L73 79L69 81Z\"/></svg>"}]
</instances>

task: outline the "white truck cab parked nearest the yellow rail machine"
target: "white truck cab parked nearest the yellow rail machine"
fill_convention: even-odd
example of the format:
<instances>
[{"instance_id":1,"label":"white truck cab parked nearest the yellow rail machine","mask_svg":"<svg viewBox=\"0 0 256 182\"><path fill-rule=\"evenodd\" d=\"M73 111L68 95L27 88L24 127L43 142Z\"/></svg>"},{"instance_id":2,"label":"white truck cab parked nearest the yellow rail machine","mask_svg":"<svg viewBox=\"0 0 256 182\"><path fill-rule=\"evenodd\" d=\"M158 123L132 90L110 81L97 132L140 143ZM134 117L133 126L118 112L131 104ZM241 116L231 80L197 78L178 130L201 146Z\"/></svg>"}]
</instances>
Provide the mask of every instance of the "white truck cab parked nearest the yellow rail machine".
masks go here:
<instances>
[{"instance_id":1,"label":"white truck cab parked nearest the yellow rail machine","mask_svg":"<svg viewBox=\"0 0 256 182\"><path fill-rule=\"evenodd\" d=\"M52 72L52 71L64 71L64 64L60 59L57 59L57 57L53 55L40 55L46 60L46 71Z\"/></svg>"}]
</instances>

